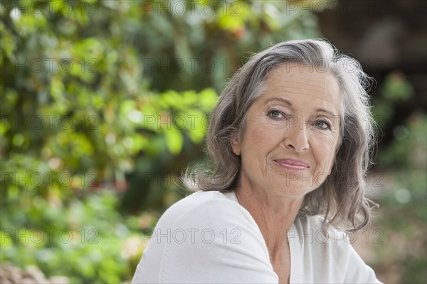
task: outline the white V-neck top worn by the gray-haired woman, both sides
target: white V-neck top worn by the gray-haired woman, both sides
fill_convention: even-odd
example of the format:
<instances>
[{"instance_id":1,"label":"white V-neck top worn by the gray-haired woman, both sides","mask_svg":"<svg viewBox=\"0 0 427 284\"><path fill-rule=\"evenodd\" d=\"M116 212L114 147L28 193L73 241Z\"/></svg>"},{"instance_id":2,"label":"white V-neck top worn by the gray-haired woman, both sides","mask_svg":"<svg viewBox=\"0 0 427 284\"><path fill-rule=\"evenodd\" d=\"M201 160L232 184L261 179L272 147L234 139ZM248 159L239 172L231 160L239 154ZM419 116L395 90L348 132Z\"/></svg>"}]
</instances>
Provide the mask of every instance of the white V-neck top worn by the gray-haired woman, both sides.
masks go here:
<instances>
[{"instance_id":1,"label":"white V-neck top worn by the gray-haired woman, both sides","mask_svg":"<svg viewBox=\"0 0 427 284\"><path fill-rule=\"evenodd\" d=\"M288 231L290 283L381 283L320 217ZM195 192L162 215L132 283L278 283L263 235L234 192Z\"/></svg>"}]
</instances>

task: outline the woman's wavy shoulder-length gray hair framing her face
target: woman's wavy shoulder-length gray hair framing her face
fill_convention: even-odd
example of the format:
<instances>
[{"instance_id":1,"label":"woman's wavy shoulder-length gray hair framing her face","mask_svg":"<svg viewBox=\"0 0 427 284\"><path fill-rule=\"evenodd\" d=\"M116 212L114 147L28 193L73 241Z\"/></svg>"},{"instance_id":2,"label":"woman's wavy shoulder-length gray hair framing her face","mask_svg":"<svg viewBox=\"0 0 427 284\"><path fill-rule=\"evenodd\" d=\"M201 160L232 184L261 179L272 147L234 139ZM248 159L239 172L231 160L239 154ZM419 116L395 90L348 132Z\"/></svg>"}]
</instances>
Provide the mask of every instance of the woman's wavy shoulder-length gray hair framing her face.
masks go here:
<instances>
[{"instance_id":1,"label":"woman's wavy shoulder-length gray hair framing her face","mask_svg":"<svg viewBox=\"0 0 427 284\"><path fill-rule=\"evenodd\" d=\"M238 70L211 114L207 148L211 165L199 166L183 175L189 190L234 190L241 160L231 141L243 133L251 104L265 89L265 79L283 64L308 65L330 72L342 94L340 145L332 173L317 190L307 193L299 215L324 214L324 226L358 231L369 223L376 205L364 197L365 177L375 143L375 124L369 111L367 89L371 78L357 60L342 55L325 40L290 40L253 55Z\"/></svg>"}]
</instances>

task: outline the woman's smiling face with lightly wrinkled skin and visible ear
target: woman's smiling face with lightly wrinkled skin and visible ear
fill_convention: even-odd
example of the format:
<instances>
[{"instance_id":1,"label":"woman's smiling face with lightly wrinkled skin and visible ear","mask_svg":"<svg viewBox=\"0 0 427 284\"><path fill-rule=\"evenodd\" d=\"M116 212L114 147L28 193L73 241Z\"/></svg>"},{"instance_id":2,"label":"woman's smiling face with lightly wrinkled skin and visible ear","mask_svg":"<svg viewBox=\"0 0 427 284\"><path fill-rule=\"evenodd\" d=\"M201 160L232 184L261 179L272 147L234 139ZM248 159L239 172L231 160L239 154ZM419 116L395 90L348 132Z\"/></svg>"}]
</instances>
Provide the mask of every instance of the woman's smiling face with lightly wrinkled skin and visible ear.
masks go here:
<instances>
[{"instance_id":1,"label":"woman's smiling face with lightly wrinkled skin and visible ear","mask_svg":"<svg viewBox=\"0 0 427 284\"><path fill-rule=\"evenodd\" d=\"M331 173L339 142L340 97L328 72L280 65L253 102L242 136L239 187L303 197Z\"/></svg>"}]
</instances>

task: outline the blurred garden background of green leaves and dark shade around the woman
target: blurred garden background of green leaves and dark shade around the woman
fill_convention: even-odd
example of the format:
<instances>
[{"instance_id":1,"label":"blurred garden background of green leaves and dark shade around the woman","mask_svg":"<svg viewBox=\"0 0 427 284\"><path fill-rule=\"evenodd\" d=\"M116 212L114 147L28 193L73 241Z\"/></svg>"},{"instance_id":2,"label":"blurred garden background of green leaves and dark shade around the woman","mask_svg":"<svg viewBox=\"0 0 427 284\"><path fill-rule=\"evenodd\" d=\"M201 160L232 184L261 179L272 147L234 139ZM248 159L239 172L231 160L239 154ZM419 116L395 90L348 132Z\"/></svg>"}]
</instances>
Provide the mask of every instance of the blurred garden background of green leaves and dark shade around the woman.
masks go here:
<instances>
[{"instance_id":1,"label":"blurred garden background of green leaves and dark shade around the woman","mask_svg":"<svg viewBox=\"0 0 427 284\"><path fill-rule=\"evenodd\" d=\"M375 79L380 207L352 243L385 283L426 283L426 4L1 1L0 282L129 282L188 194L181 171L206 163L227 79L271 44L327 38Z\"/></svg>"}]
</instances>

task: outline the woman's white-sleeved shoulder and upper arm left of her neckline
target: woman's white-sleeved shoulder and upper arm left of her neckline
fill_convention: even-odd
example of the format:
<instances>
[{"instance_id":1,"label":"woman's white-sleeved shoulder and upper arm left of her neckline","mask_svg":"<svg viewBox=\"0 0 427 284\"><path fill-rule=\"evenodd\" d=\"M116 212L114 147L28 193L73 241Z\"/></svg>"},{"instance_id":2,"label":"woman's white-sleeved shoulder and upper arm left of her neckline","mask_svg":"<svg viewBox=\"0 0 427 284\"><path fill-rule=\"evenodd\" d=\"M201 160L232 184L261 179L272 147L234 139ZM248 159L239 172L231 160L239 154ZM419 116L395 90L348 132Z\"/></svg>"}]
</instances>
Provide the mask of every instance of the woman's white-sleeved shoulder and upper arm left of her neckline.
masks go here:
<instances>
[{"instance_id":1,"label":"woman's white-sleeved shoulder and upper arm left of her neckline","mask_svg":"<svg viewBox=\"0 0 427 284\"><path fill-rule=\"evenodd\" d=\"M263 236L234 197L200 191L169 207L133 283L277 283Z\"/></svg>"}]
</instances>

